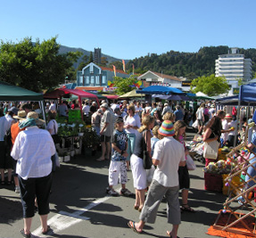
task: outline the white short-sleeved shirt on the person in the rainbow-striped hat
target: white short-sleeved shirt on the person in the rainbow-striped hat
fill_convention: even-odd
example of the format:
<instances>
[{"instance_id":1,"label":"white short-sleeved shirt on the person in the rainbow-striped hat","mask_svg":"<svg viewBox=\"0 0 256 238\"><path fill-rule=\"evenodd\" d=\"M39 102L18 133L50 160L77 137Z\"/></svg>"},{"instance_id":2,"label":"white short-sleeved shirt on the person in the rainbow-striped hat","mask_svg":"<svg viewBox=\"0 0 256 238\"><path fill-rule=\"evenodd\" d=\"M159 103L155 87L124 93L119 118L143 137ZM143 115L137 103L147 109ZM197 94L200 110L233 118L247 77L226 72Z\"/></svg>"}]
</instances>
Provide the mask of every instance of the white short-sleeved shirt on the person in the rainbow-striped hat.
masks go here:
<instances>
[{"instance_id":1,"label":"white short-sleeved shirt on the person in the rainbow-striped hat","mask_svg":"<svg viewBox=\"0 0 256 238\"><path fill-rule=\"evenodd\" d=\"M153 179L165 187L178 186L178 164L186 160L184 145L172 136L164 137L156 142L153 159L160 160Z\"/></svg>"}]
</instances>

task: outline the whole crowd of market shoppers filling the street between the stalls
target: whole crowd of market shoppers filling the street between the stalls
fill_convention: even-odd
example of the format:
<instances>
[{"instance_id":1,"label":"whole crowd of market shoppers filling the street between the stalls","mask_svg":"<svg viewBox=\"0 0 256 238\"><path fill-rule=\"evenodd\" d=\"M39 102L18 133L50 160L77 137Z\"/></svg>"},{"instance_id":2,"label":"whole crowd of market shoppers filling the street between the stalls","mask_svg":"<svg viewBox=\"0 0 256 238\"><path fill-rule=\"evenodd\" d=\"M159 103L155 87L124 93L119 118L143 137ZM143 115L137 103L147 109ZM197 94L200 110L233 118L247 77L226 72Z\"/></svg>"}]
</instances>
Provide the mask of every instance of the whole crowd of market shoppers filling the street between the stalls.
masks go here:
<instances>
[{"instance_id":1,"label":"whole crowd of market shoppers filling the street between the stalls","mask_svg":"<svg viewBox=\"0 0 256 238\"><path fill-rule=\"evenodd\" d=\"M76 101L45 103L48 115L45 129L41 128L45 121L39 119L42 111L37 103L4 103L0 108L1 185L5 185L5 169L6 185L12 185L13 170L15 193L21 193L23 206L24 228L21 234L30 237L35 205L40 215L42 233L47 234L50 230L47 214L53 156L56 152L54 144L58 143L54 139L58 133L56 116L69 117L69 110L79 109L79 104ZM113 101L111 104L103 101L99 106L87 100L83 102L82 111L84 119L91 123L101 141L101 156L96 160L110 160L106 193L118 196L114 186L120 183L120 194L134 195L126 187L127 171L132 171L136 198L134 209L141 214L137 223L129 221L128 226L136 233L142 233L146 222L154 223L157 209L165 196L168 223L173 225L167 233L170 237L177 237L180 211L194 212L188 204L190 178L186 168L189 153L185 144L186 127L197 121L198 133L202 134L204 142L218 140L231 146L235 143L236 114L215 111L214 103L199 106L196 103L193 108L186 108L182 103L128 103L126 100L120 103ZM4 141L8 130L12 137L9 151ZM240 138L243 140L243 135ZM153 161L150 169L144 167L145 150ZM207 160L207 163L210 161ZM182 204L178 201L179 191Z\"/></svg>"}]
</instances>

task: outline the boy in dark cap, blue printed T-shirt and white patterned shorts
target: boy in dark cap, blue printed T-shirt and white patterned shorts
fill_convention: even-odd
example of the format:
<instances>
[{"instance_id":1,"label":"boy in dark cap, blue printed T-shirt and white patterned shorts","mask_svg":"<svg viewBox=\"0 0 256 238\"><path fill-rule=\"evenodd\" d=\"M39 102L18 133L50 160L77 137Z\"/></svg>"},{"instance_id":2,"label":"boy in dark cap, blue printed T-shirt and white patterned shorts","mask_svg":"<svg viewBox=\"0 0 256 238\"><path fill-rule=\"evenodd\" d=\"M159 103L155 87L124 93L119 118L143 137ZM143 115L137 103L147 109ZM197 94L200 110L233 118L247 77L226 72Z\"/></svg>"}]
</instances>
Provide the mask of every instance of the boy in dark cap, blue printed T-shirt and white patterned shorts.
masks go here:
<instances>
[{"instance_id":1,"label":"boy in dark cap, blue printed T-shirt and white patterned shorts","mask_svg":"<svg viewBox=\"0 0 256 238\"><path fill-rule=\"evenodd\" d=\"M106 189L106 193L111 196L119 195L119 193L113 189L113 185L118 185L119 177L120 184L122 186L120 194L124 196L133 195L133 193L128 191L126 188L126 183L128 182L126 168L126 157L128 156L128 135L123 127L123 118L119 117L116 120L116 129L114 130L111 138L112 156L109 168L109 186Z\"/></svg>"}]
</instances>

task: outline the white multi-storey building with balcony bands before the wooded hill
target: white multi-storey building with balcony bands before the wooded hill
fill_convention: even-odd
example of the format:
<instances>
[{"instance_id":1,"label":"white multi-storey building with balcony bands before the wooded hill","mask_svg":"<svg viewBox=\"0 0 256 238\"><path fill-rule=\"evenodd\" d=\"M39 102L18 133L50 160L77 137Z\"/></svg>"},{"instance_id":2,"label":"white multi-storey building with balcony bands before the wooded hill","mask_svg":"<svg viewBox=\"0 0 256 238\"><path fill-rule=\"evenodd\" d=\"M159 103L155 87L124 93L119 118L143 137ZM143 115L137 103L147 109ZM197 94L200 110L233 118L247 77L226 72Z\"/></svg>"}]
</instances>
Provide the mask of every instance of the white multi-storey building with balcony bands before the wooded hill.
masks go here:
<instances>
[{"instance_id":1,"label":"white multi-storey building with balcony bands before the wooded hill","mask_svg":"<svg viewBox=\"0 0 256 238\"><path fill-rule=\"evenodd\" d=\"M227 54L219 55L215 61L215 76L225 76L228 84L237 84L237 79L248 82L252 79L252 60L244 59L238 48L231 48Z\"/></svg>"}]
</instances>

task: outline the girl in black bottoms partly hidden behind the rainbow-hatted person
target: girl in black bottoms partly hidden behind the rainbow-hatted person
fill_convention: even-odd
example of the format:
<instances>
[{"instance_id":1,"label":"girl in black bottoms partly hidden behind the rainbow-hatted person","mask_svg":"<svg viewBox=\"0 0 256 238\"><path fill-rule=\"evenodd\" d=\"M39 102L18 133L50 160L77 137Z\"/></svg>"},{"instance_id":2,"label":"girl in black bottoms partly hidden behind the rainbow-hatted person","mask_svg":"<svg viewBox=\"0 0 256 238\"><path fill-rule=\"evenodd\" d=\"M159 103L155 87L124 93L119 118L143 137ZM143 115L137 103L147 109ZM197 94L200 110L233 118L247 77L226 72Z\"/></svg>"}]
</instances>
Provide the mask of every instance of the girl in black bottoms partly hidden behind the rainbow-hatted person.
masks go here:
<instances>
[{"instance_id":1,"label":"girl in black bottoms partly hidden behind the rainbow-hatted person","mask_svg":"<svg viewBox=\"0 0 256 238\"><path fill-rule=\"evenodd\" d=\"M184 142L184 138L186 136L186 123L182 120L178 120L174 124L174 131L175 135L174 138L178 140L181 144L184 145L185 149L185 154L187 155L189 152L186 149L186 145ZM190 178L188 174L188 170L186 166L179 166L178 167L178 180L179 180L179 189L182 190L181 196L182 196L182 205L180 210L181 211L189 211L189 212L194 212L194 209L192 209L188 204L187 204L187 198L188 198L188 191L189 191L189 186L190 186Z\"/></svg>"}]
</instances>

